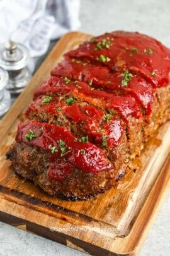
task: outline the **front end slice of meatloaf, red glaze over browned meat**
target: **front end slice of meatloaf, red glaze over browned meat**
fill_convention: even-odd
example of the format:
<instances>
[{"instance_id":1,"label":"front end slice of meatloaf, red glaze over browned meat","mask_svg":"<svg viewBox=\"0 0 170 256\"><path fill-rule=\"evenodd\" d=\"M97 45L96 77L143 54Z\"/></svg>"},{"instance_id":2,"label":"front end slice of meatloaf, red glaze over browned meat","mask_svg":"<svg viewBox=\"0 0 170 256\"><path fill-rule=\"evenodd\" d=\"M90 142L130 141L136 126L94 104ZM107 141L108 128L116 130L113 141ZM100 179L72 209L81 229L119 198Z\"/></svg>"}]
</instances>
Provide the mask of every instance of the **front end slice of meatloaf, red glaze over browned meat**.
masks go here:
<instances>
[{"instance_id":1,"label":"front end slice of meatloaf, red glaze over browned meat","mask_svg":"<svg viewBox=\"0 0 170 256\"><path fill-rule=\"evenodd\" d=\"M105 153L89 142L79 142L61 126L21 123L9 153L16 173L67 200L95 197L116 182Z\"/></svg>"}]
</instances>

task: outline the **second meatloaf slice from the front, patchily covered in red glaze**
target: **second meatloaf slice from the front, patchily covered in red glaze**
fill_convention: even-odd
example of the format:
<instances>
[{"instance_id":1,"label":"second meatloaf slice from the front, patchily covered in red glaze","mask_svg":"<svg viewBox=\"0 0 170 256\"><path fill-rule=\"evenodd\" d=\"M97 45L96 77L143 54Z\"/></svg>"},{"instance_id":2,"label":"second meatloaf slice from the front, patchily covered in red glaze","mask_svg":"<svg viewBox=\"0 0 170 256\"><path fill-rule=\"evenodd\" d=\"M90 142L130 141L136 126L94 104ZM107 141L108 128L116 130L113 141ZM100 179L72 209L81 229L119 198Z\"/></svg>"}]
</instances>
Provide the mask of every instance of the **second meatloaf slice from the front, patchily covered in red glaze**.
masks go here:
<instances>
[{"instance_id":1,"label":"second meatloaf slice from the front, patchily covered in red glaze","mask_svg":"<svg viewBox=\"0 0 170 256\"><path fill-rule=\"evenodd\" d=\"M59 97L53 97L50 102L43 104L43 99L45 96L38 97L28 107L25 114L27 120L35 119L66 127L79 140L88 139L101 147L117 169L127 161L125 123L120 118L113 117L88 102L67 105L67 97L60 101Z\"/></svg>"}]
</instances>

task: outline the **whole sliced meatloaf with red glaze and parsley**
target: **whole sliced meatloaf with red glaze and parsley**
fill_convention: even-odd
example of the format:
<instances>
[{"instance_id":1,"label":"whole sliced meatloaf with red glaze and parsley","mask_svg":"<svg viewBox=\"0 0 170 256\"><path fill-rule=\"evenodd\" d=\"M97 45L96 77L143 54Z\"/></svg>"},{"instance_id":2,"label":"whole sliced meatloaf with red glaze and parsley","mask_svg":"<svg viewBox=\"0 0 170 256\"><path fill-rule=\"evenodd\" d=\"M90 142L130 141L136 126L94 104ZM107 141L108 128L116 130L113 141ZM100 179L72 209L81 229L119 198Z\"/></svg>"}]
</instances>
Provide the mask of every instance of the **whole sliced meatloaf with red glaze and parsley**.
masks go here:
<instances>
[{"instance_id":1,"label":"whole sliced meatloaf with red glaze and parsley","mask_svg":"<svg viewBox=\"0 0 170 256\"><path fill-rule=\"evenodd\" d=\"M170 119L170 51L138 32L111 32L67 52L35 91L13 170L65 200L103 193L132 169Z\"/></svg>"}]
</instances>

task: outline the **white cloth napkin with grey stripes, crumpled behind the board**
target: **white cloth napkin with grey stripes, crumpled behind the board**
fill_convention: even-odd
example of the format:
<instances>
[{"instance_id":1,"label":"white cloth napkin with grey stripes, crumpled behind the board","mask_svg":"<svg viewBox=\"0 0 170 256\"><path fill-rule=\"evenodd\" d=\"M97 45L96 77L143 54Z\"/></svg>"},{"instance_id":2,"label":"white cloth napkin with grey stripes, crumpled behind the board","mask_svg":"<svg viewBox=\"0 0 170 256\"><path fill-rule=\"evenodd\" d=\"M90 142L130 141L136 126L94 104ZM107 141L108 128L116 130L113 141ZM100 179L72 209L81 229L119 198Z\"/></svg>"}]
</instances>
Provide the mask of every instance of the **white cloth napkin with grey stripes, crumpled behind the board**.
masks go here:
<instances>
[{"instance_id":1,"label":"white cloth napkin with grey stripes, crumpled behind the board","mask_svg":"<svg viewBox=\"0 0 170 256\"><path fill-rule=\"evenodd\" d=\"M80 27L79 8L79 0L0 0L0 43L11 39L28 47L33 70L50 39Z\"/></svg>"}]
</instances>

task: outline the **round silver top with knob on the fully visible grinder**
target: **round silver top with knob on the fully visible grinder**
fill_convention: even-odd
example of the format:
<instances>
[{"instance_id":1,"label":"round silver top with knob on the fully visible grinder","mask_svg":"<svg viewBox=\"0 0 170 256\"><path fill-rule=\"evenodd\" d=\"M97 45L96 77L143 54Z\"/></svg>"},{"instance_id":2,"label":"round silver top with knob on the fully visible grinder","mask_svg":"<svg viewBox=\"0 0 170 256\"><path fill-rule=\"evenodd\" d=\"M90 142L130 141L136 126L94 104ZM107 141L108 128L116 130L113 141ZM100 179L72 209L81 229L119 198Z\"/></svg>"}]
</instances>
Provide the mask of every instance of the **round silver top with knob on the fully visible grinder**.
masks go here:
<instances>
[{"instance_id":1,"label":"round silver top with knob on the fully visible grinder","mask_svg":"<svg viewBox=\"0 0 170 256\"><path fill-rule=\"evenodd\" d=\"M0 44L0 66L5 70L20 70L28 64L30 53L23 44L9 40Z\"/></svg>"}]
</instances>

